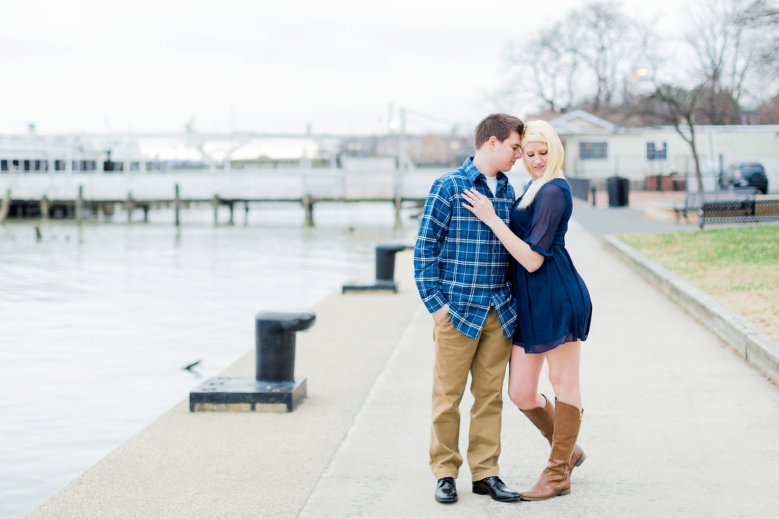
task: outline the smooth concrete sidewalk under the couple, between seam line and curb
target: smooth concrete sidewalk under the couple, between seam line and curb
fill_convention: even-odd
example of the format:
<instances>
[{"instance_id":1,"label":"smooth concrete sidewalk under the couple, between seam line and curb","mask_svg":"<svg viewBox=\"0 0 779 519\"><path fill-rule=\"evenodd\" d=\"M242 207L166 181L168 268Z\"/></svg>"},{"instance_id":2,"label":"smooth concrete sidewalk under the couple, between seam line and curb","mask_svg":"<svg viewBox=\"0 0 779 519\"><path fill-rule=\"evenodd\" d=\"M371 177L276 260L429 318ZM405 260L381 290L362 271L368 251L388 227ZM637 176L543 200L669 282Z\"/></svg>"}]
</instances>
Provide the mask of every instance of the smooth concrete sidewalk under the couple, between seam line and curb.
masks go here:
<instances>
[{"instance_id":1,"label":"smooth concrete sidewalk under the couple, between seam line and curb","mask_svg":"<svg viewBox=\"0 0 779 519\"><path fill-rule=\"evenodd\" d=\"M779 391L612 258L577 223L569 248L594 300L585 412L570 496L432 500L427 466L430 317L418 311L301 517L775 517ZM421 347L421 345L428 347ZM546 380L543 391L551 395ZM548 444L505 398L501 475L530 486ZM464 398L464 423L471 405ZM460 447L467 447L467 429Z\"/></svg>"}]
</instances>

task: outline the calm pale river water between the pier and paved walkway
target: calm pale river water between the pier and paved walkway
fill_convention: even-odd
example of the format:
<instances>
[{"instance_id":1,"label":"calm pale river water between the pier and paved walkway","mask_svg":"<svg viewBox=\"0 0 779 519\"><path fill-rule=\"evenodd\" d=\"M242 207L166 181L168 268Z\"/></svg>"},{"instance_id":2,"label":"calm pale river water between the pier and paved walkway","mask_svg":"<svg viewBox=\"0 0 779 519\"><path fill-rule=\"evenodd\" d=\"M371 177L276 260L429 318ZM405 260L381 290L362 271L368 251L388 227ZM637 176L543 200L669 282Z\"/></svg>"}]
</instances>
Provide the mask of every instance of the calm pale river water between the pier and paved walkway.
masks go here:
<instances>
[{"instance_id":1,"label":"calm pale river water between the pier and paved walkway","mask_svg":"<svg viewBox=\"0 0 779 519\"><path fill-rule=\"evenodd\" d=\"M0 517L17 519L254 347L264 308L312 307L398 240L389 205L150 212L0 226ZM226 221L225 215L220 218ZM408 220L406 220L408 222ZM407 233L409 226L406 226ZM184 366L199 361L193 371Z\"/></svg>"}]
</instances>

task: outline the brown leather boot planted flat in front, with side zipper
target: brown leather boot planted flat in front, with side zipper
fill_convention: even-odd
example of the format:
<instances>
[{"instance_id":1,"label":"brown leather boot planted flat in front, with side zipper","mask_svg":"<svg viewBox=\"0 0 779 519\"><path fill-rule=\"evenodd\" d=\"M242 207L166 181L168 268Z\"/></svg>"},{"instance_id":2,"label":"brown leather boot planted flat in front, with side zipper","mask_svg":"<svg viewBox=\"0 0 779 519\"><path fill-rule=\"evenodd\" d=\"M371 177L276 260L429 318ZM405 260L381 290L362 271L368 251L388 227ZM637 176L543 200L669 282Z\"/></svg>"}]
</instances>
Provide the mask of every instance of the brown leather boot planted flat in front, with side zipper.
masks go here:
<instances>
[{"instance_id":1,"label":"brown leather boot planted flat in front, with side zipper","mask_svg":"<svg viewBox=\"0 0 779 519\"><path fill-rule=\"evenodd\" d=\"M557 402L555 410L555 431L552 433L552 452L541 472L541 477L530 489L520 492L526 501L548 500L554 496L571 493L571 466L568 461L576 446L582 412L564 402Z\"/></svg>"}]
</instances>

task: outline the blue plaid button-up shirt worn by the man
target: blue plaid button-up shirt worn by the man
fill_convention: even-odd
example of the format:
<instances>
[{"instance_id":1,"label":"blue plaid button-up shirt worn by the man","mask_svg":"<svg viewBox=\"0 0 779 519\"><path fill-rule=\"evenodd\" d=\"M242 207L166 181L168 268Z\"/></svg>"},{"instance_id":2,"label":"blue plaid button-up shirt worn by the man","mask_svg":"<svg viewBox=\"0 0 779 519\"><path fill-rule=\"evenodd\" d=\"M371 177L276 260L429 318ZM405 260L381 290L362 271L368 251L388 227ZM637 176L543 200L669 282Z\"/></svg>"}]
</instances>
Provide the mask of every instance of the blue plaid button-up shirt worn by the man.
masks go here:
<instances>
[{"instance_id":1,"label":"blue plaid button-up shirt worn by the man","mask_svg":"<svg viewBox=\"0 0 779 519\"><path fill-rule=\"evenodd\" d=\"M509 253L495 233L462 206L460 195L475 188L492 201L508 225L514 188L506 174L499 173L493 196L472 159L430 188L414 247L414 279L428 311L449 303L452 324L463 335L478 338L489 307L494 306L503 332L510 337L516 328L516 304L506 279Z\"/></svg>"}]
</instances>

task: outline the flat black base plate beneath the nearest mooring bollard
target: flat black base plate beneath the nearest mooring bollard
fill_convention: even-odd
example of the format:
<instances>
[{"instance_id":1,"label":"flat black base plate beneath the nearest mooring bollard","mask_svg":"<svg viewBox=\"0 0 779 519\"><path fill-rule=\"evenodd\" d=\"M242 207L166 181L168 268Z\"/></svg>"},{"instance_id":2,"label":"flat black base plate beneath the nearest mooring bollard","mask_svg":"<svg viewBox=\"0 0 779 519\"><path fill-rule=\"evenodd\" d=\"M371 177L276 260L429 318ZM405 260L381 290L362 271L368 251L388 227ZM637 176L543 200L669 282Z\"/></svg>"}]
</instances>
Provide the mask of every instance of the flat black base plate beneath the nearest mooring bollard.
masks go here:
<instances>
[{"instance_id":1,"label":"flat black base plate beneath the nearest mooring bollard","mask_svg":"<svg viewBox=\"0 0 779 519\"><path fill-rule=\"evenodd\" d=\"M292 412L305 397L305 377L286 382L267 382L254 377L213 377L190 391L189 410Z\"/></svg>"}]
</instances>

